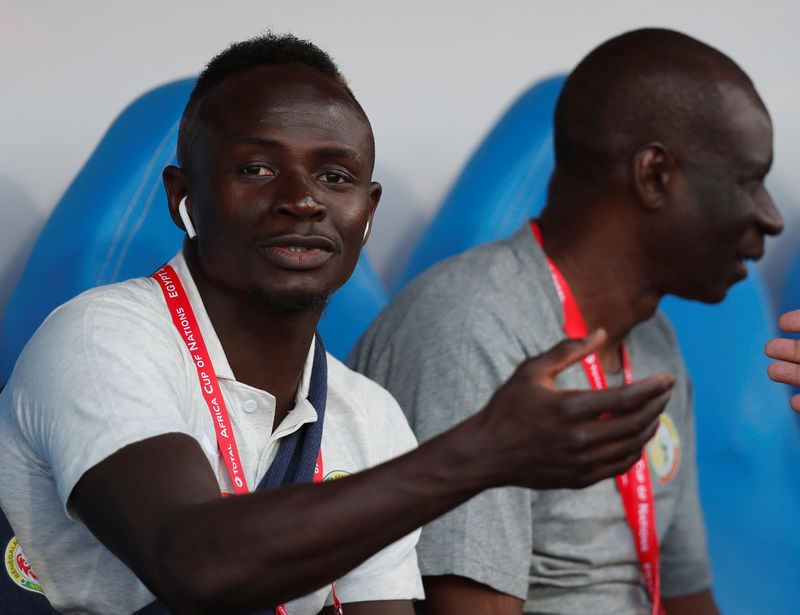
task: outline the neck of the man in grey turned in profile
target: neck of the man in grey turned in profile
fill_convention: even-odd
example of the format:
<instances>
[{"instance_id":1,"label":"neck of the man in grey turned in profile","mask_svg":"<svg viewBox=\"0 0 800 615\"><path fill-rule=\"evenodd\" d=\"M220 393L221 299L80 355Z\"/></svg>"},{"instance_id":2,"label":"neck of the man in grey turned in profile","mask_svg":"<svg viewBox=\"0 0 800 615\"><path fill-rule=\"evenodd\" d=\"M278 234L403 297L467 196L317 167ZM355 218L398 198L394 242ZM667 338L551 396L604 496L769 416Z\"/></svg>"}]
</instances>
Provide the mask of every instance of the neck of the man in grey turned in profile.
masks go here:
<instances>
[{"instance_id":1,"label":"neck of the man in grey turned in profile","mask_svg":"<svg viewBox=\"0 0 800 615\"><path fill-rule=\"evenodd\" d=\"M625 242L631 231L613 213L575 216L561 207L542 212L539 228L544 251L569 284L587 330L602 327L608 334L598 351L603 368L619 371L622 342L634 326L653 316L661 300L643 271L643 255L633 242Z\"/></svg>"}]
</instances>

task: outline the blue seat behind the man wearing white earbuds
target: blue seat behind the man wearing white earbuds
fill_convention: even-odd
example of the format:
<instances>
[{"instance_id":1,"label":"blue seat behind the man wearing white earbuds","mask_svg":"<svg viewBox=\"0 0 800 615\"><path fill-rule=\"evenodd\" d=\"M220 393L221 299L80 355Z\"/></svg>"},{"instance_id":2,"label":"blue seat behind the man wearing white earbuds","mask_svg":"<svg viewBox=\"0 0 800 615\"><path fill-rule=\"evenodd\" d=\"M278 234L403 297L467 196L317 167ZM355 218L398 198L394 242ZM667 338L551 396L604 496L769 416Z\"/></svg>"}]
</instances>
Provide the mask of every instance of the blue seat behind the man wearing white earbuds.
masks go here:
<instances>
[{"instance_id":1,"label":"blue seat behind the man wearing white earbuds","mask_svg":"<svg viewBox=\"0 0 800 615\"><path fill-rule=\"evenodd\" d=\"M42 230L0 326L0 383L55 307L80 292L149 275L180 248L161 170L175 164L183 107L194 79L158 87L115 120ZM386 303L366 255L320 323L326 348L343 358Z\"/></svg>"}]
</instances>

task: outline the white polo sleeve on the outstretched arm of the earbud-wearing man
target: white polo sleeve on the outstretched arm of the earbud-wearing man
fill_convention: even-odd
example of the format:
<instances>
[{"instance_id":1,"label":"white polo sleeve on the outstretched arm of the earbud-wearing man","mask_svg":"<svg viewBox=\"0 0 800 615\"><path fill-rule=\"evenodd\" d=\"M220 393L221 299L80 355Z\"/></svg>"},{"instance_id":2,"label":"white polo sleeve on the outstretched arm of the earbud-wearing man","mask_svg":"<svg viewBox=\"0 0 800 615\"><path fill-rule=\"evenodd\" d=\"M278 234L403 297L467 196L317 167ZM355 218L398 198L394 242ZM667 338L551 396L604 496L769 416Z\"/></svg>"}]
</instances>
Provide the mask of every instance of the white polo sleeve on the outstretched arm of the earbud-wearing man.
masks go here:
<instances>
[{"instance_id":1,"label":"white polo sleeve on the outstretched arm of the earbud-wearing man","mask_svg":"<svg viewBox=\"0 0 800 615\"><path fill-rule=\"evenodd\" d=\"M130 295L105 287L58 308L9 381L20 431L52 468L64 505L88 469L124 446L188 433L177 336L156 305Z\"/></svg>"}]
</instances>

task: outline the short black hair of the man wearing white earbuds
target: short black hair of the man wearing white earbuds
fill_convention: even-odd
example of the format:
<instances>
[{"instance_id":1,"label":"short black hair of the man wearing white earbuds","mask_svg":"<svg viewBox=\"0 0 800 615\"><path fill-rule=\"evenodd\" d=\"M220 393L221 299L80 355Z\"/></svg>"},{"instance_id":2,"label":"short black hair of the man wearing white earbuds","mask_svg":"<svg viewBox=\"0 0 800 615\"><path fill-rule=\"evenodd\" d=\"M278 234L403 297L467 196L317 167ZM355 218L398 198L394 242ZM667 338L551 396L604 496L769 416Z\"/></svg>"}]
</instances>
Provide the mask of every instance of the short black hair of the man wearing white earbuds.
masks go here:
<instances>
[{"instance_id":1,"label":"short black hair of the man wearing white earbuds","mask_svg":"<svg viewBox=\"0 0 800 615\"><path fill-rule=\"evenodd\" d=\"M233 43L215 55L206 64L183 110L178 129L178 164L189 161L189 148L198 133L198 118L202 101L209 91L228 77L264 64L302 64L327 75L347 92L361 109L347 84L347 79L333 59L311 41L297 38L293 34L267 32L260 36ZM363 110L362 110L363 112Z\"/></svg>"}]
</instances>

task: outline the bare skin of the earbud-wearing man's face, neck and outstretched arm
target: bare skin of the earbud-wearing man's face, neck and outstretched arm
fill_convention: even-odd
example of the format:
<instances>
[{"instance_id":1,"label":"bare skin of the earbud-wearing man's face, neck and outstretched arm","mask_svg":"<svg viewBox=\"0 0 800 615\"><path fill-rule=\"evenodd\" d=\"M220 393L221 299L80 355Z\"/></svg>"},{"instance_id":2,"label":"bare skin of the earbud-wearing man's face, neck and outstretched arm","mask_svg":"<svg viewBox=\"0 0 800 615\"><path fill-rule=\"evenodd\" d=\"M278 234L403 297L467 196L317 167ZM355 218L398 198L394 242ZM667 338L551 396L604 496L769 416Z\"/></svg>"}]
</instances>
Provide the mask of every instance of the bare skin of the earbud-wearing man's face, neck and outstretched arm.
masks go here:
<instances>
[{"instance_id":1,"label":"bare skin of the earbud-wearing man's face, neck and outstretched arm","mask_svg":"<svg viewBox=\"0 0 800 615\"><path fill-rule=\"evenodd\" d=\"M236 378L274 392L283 416L320 316L315 299L351 274L378 202L371 131L338 84L297 65L235 74L203 113L188 169L164 172L170 208L181 225L188 194L198 236L184 253ZM343 480L223 499L200 445L165 434L89 470L69 503L173 612L271 607L483 489L580 487L627 469L673 380L557 390L555 375L604 340L597 332L526 361L468 421ZM345 610L413 612L408 601Z\"/></svg>"}]
</instances>

